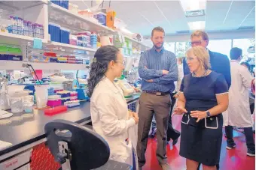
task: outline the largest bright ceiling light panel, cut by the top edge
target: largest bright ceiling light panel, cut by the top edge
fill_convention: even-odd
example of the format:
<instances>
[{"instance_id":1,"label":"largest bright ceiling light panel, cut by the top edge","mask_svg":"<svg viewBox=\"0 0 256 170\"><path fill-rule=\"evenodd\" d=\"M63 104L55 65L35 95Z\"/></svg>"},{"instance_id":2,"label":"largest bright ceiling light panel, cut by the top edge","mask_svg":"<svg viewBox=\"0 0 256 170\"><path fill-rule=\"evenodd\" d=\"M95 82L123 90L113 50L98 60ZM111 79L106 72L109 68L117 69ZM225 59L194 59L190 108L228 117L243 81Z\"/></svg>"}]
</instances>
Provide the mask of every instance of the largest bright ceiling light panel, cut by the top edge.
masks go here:
<instances>
[{"instance_id":1,"label":"largest bright ceiling light panel, cut by the top edge","mask_svg":"<svg viewBox=\"0 0 256 170\"><path fill-rule=\"evenodd\" d=\"M206 0L179 0L184 11L205 10Z\"/></svg>"}]
</instances>

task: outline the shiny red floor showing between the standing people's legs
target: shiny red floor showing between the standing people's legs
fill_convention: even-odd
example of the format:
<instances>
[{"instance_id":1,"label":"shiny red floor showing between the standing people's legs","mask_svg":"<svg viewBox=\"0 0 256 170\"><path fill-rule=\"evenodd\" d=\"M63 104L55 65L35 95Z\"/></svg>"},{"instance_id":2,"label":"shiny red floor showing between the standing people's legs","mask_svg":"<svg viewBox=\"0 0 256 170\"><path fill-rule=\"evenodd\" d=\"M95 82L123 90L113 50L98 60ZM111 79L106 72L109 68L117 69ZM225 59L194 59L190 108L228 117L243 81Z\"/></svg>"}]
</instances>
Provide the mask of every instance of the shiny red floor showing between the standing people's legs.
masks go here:
<instances>
[{"instance_id":1,"label":"shiny red floor showing between the standing people's legs","mask_svg":"<svg viewBox=\"0 0 256 170\"><path fill-rule=\"evenodd\" d=\"M176 130L180 130L180 117L174 116L172 124ZM245 136L242 133L233 131L234 140L236 142L236 149L227 151L226 139L223 137L222 148L221 148L221 170L254 170L255 169L255 158L246 156L247 148L245 144ZM157 150L157 139L148 140L148 149L146 152L147 163L143 167L143 170L160 170L156 158ZM172 147L167 145L167 157L169 165L172 170L185 170L185 159L180 157L179 154L179 141Z\"/></svg>"}]
</instances>

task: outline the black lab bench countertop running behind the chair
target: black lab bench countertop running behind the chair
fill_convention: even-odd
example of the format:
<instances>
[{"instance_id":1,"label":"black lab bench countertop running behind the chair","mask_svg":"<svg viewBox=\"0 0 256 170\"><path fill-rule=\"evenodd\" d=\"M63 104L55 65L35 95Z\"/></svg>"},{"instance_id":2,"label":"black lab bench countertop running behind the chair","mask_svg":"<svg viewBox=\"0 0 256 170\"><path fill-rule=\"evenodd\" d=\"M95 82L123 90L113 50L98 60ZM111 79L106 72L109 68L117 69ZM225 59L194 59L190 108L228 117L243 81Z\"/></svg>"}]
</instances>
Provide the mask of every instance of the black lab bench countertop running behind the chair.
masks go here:
<instances>
[{"instance_id":1,"label":"black lab bench countertop running behind the chair","mask_svg":"<svg viewBox=\"0 0 256 170\"><path fill-rule=\"evenodd\" d=\"M127 104L139 99L139 95L126 99ZM22 115L22 114L14 114ZM10 125L0 125L0 140L10 142L11 147L0 151L0 156L23 146L32 144L45 138L44 125L56 119L73 121L78 124L90 121L90 102L81 102L81 106L69 109L68 112L47 116L42 110L34 110L34 118L27 118L20 123L12 122Z\"/></svg>"}]
</instances>

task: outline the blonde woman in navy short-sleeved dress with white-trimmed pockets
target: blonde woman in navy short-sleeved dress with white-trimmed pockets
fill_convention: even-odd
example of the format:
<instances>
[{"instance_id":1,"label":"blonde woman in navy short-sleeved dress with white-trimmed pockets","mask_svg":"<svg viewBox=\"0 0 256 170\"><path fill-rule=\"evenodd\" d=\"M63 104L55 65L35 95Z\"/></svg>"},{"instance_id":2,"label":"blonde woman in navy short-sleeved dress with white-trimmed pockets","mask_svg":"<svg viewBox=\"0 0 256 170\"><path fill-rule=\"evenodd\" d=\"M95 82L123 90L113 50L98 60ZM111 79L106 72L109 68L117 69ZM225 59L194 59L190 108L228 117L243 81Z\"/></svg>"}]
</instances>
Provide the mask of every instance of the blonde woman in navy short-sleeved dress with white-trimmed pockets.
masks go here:
<instances>
[{"instance_id":1,"label":"blonde woman in navy short-sleeved dress with white-trimmed pockets","mask_svg":"<svg viewBox=\"0 0 256 170\"><path fill-rule=\"evenodd\" d=\"M228 87L222 74L210 70L209 53L201 46L186 52L190 74L181 82L174 115L181 120L180 155L187 170L214 170L219 163L222 141L222 112L228 106Z\"/></svg>"}]
</instances>

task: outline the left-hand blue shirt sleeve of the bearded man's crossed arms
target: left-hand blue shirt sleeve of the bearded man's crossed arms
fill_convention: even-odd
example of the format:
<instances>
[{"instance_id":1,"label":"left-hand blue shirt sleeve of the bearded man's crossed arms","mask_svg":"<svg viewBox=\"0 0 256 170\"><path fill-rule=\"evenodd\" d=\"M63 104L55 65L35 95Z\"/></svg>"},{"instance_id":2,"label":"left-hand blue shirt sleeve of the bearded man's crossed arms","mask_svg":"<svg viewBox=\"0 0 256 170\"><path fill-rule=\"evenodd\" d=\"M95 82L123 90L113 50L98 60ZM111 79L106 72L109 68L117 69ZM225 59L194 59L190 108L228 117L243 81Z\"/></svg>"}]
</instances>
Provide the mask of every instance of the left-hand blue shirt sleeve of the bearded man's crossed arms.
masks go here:
<instances>
[{"instance_id":1,"label":"left-hand blue shirt sleeve of the bearded man's crossed arms","mask_svg":"<svg viewBox=\"0 0 256 170\"><path fill-rule=\"evenodd\" d=\"M139 60L139 76L142 79L154 79L163 75L163 70L148 69L147 52L143 52ZM147 67L147 68L146 68Z\"/></svg>"}]
</instances>

